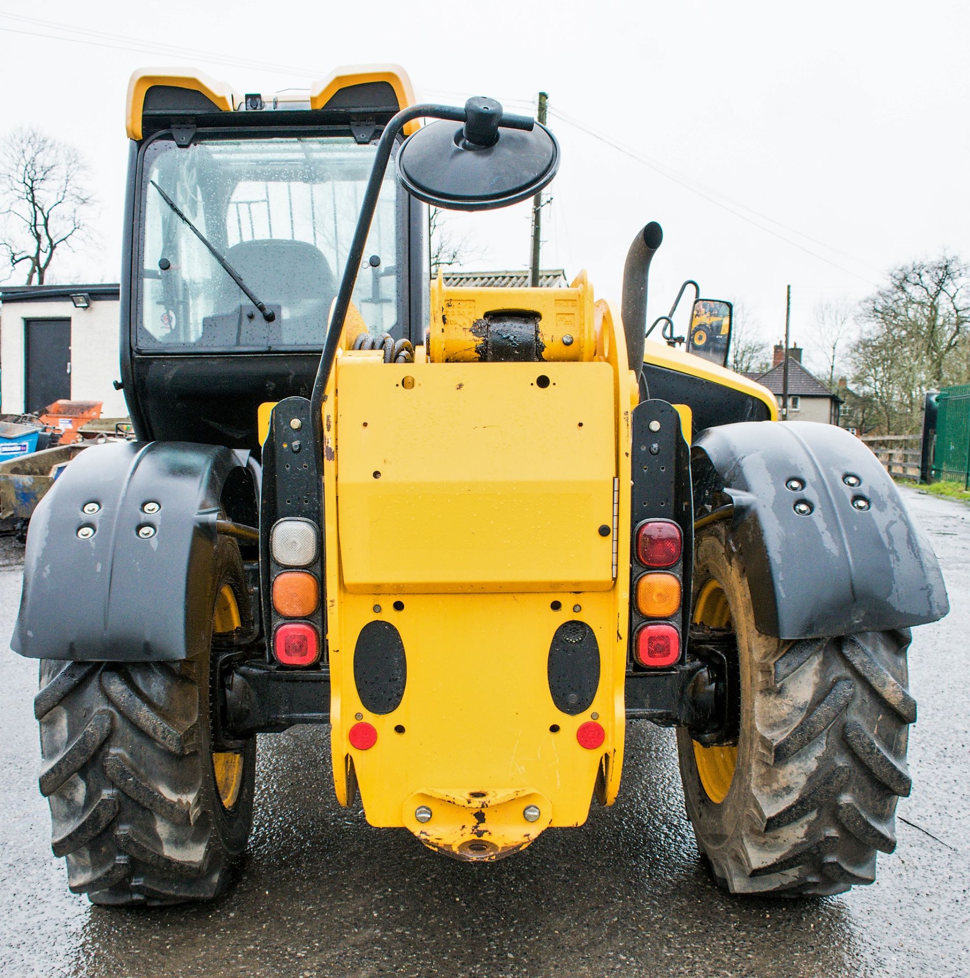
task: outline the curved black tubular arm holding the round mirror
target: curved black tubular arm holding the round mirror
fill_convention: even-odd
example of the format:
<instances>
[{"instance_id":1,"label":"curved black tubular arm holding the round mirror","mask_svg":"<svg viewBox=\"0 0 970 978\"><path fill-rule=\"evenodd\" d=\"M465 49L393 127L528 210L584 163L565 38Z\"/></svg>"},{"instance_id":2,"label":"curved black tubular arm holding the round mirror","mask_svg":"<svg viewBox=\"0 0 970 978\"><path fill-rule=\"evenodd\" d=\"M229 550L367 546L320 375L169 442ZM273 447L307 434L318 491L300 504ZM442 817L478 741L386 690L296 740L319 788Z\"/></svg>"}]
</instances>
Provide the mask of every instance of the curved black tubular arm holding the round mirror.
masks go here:
<instances>
[{"instance_id":1,"label":"curved black tubular arm holding the round mirror","mask_svg":"<svg viewBox=\"0 0 970 978\"><path fill-rule=\"evenodd\" d=\"M343 270L343 277L340 279L340 289L337 291L336 299L334 300L331 321L327 329L327 335L324 338L324 350L320 357L320 365L317 368L317 377L313 383L313 393L310 396L310 417L313 419L314 443L318 457L321 459L324 456L324 396L330 380L333 360L336 357L336 348L340 343L340 335L343 333L343 324L347 318L347 310L350 308L350 297L353 294L354 286L357 284L357 273L360 270L361 261L364 257L364 248L367 245L371 223L374 220L374 214L377 208L377 199L380 196L380 186L384 180L387 163L391 158L394 141L404 127L413 119L434 118L471 123L470 125L465 125L464 135L465 139L474 143L476 141L475 136L478 135L477 128L474 125L476 121L474 116L477 107L472 105L472 103L478 101L481 100L469 99L468 104L463 109L459 109L457 106L436 106L428 104L410 106L394 115L385 126L384 131L380 134L380 139L377 141L374 165L371 167L371 176L368 179L367 190L364 192L361 213L357 218L357 227L354 230L354 237L350 243L347 264ZM472 117L469 118L469 115ZM535 126L535 120L526 115L507 115L503 112L498 125L507 129L531 131Z\"/></svg>"}]
</instances>

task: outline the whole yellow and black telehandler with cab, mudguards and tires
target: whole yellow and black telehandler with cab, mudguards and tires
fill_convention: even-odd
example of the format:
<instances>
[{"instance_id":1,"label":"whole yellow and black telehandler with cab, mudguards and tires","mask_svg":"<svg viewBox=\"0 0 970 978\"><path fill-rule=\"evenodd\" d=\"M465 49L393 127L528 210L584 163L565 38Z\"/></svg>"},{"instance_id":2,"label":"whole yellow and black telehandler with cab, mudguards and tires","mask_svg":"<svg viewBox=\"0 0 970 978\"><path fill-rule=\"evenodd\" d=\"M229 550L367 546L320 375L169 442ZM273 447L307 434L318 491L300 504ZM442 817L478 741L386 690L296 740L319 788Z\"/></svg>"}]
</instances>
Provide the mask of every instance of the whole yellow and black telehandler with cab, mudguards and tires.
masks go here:
<instances>
[{"instance_id":1,"label":"whole yellow and black telehandler with cab, mudguards and tires","mask_svg":"<svg viewBox=\"0 0 970 978\"><path fill-rule=\"evenodd\" d=\"M71 890L218 893L256 733L329 723L341 804L489 861L612 804L637 719L732 892L870 882L940 571L859 441L711 362L727 304L707 359L644 343L659 227L622 313L583 273L428 291L425 204L533 195L546 128L390 67L303 102L139 73L127 122L138 441L41 503L14 639Z\"/></svg>"}]
</instances>

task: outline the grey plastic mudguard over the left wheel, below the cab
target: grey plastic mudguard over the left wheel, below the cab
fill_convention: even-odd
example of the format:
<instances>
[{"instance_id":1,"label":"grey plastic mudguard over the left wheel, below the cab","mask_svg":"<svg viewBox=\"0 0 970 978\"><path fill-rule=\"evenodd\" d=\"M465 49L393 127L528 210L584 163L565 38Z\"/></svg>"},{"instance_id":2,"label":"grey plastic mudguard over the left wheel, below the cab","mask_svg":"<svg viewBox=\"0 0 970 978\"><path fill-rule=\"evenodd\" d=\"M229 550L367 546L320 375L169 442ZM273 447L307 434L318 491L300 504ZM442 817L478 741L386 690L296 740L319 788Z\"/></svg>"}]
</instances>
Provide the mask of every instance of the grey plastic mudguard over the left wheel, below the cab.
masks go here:
<instances>
[{"instance_id":1,"label":"grey plastic mudguard over the left wheel, below the cab","mask_svg":"<svg viewBox=\"0 0 970 978\"><path fill-rule=\"evenodd\" d=\"M14 651L84 662L186 658L211 614L193 596L211 584L220 494L247 456L187 442L81 452L30 521ZM159 509L146 513L146 503ZM88 504L99 509L85 512ZM82 526L94 535L79 537ZM140 536L142 527L154 533Z\"/></svg>"}]
</instances>

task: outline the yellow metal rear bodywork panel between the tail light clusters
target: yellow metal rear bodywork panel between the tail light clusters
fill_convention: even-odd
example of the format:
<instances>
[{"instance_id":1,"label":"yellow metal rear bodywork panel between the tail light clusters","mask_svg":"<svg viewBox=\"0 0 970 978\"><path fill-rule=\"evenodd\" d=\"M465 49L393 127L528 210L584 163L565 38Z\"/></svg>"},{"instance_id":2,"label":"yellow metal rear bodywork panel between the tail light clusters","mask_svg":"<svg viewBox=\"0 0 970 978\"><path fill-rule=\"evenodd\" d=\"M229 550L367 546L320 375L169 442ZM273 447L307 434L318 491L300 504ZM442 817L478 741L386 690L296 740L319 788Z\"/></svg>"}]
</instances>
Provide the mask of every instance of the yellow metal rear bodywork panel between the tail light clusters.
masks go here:
<instances>
[{"instance_id":1,"label":"yellow metal rear bodywork panel between the tail light clusters","mask_svg":"<svg viewBox=\"0 0 970 978\"><path fill-rule=\"evenodd\" d=\"M389 365L343 343L324 418L331 743L341 803L359 789L372 824L487 860L585 822L594 791L616 797L629 600L617 542L630 539L619 486L636 390L619 320L594 306L585 278L554 293L439 284L433 350L459 341L464 322L450 313L465 302L568 303L584 361L436 362L419 347L415 363ZM383 716L354 679L357 637L375 619L407 650L403 700ZM578 716L555 707L547 673L552 636L573 619L600 655L595 700ZM367 750L348 739L360 721L377 732ZM576 736L589 721L605 733L595 749Z\"/></svg>"}]
</instances>

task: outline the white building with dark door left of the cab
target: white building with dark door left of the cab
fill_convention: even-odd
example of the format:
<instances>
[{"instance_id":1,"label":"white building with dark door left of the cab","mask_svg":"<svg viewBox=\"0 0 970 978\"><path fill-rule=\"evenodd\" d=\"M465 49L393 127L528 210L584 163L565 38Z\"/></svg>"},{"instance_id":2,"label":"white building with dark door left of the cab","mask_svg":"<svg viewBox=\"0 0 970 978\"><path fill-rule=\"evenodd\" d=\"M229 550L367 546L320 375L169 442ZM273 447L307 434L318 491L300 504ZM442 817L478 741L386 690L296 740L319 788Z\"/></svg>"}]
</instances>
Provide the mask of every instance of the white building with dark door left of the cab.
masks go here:
<instances>
[{"instance_id":1,"label":"white building with dark door left of the cab","mask_svg":"<svg viewBox=\"0 0 970 978\"><path fill-rule=\"evenodd\" d=\"M125 418L118 365L118 287L0 289L0 413L40 411L59 398L102 401L102 418Z\"/></svg>"}]
</instances>

